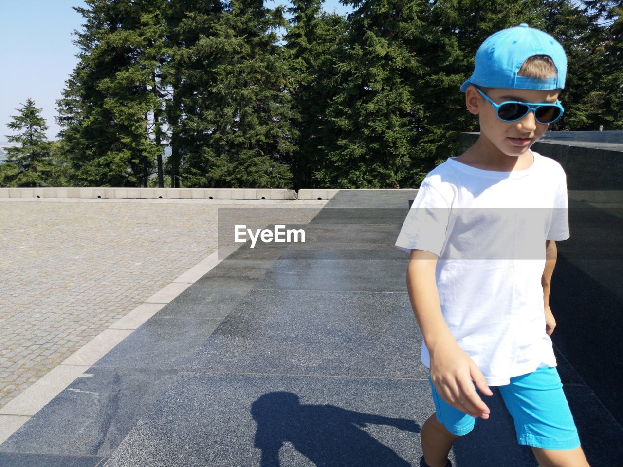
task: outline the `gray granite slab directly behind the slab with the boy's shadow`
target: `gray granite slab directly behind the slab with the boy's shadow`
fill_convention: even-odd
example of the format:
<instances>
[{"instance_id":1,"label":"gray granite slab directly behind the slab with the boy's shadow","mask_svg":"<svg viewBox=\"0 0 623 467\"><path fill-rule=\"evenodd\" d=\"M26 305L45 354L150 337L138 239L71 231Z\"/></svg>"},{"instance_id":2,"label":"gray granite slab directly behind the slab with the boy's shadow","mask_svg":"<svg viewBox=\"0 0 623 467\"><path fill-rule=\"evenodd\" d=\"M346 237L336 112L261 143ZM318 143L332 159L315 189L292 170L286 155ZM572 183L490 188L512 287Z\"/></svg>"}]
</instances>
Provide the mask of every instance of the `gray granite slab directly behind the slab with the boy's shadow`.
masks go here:
<instances>
[{"instance_id":1,"label":"gray granite slab directly behind the slab with the boy's shadow","mask_svg":"<svg viewBox=\"0 0 623 467\"><path fill-rule=\"evenodd\" d=\"M254 290L185 369L425 379L421 343L406 293Z\"/></svg>"}]
</instances>

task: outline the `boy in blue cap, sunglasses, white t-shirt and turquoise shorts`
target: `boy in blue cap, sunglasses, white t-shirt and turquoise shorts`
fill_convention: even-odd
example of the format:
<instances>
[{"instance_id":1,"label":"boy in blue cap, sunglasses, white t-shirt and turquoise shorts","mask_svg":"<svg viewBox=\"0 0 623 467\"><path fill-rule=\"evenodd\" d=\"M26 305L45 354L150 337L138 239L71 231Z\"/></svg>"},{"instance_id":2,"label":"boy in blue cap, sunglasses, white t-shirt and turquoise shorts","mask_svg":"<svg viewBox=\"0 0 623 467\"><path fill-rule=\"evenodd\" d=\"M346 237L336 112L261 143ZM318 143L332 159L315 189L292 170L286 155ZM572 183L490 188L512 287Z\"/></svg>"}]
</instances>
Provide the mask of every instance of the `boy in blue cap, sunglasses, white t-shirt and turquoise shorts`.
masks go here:
<instances>
[{"instance_id":1,"label":"boy in blue cap, sunglasses, white t-shirt and turquoise shorts","mask_svg":"<svg viewBox=\"0 0 623 467\"><path fill-rule=\"evenodd\" d=\"M493 395L489 385L541 467L588 466L549 338L554 241L569 238L566 175L530 151L563 113L566 68L558 41L525 23L480 45L461 86L480 137L427 174L396 240L411 254L407 289L436 410L422 427L422 467L452 467L452 443L488 418L479 393Z\"/></svg>"}]
</instances>

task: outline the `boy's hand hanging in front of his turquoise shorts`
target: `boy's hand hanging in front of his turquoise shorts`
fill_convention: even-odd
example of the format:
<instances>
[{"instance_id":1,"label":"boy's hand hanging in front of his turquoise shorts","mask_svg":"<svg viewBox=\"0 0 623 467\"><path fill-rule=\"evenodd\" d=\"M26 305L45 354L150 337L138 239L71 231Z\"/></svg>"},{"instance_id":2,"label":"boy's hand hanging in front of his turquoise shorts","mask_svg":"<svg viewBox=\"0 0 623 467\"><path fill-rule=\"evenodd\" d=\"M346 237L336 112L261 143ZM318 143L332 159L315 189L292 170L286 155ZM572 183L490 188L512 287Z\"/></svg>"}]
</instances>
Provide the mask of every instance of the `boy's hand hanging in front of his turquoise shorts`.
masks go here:
<instances>
[{"instance_id":1,"label":"boy's hand hanging in front of his turquoise shorts","mask_svg":"<svg viewBox=\"0 0 623 467\"><path fill-rule=\"evenodd\" d=\"M493 392L472 357L454 339L447 339L430 351L430 380L450 406L474 418L489 418L490 410L473 384L485 395Z\"/></svg>"}]
</instances>

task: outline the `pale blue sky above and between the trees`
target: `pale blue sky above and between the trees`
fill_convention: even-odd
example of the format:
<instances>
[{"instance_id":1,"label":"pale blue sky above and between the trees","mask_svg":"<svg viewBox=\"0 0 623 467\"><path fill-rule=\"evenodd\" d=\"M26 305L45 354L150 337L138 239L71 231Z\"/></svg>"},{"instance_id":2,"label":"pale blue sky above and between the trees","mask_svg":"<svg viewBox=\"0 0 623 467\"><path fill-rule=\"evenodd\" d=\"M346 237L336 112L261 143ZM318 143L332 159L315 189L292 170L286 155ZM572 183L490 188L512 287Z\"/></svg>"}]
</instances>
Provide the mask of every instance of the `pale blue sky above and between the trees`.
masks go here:
<instances>
[{"instance_id":1,"label":"pale blue sky above and between the trees","mask_svg":"<svg viewBox=\"0 0 623 467\"><path fill-rule=\"evenodd\" d=\"M265 1L264 6L291 6L287 0ZM83 17L72 6L82 0L0 0L0 142L15 134L6 124L27 98L42 108L48 139L56 139L56 100L74 69L78 48L72 44ZM338 0L325 0L325 11L345 16L352 7ZM286 17L290 15L286 13ZM283 31L281 32L283 34Z\"/></svg>"}]
</instances>

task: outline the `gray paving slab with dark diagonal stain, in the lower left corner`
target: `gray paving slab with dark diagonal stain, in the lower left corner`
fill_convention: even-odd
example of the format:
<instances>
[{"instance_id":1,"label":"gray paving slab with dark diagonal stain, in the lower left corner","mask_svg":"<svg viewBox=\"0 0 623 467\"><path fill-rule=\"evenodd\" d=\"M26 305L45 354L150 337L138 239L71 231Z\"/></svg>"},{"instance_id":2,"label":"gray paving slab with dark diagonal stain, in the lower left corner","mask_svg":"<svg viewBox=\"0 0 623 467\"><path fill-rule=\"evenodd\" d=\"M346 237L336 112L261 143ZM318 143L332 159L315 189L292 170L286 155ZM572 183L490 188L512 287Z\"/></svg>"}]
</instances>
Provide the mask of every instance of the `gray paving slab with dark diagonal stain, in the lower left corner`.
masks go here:
<instances>
[{"instance_id":1,"label":"gray paving slab with dark diagonal stain, in the lower left corner","mask_svg":"<svg viewBox=\"0 0 623 467\"><path fill-rule=\"evenodd\" d=\"M107 456L176 374L176 370L88 369L4 441L0 452Z\"/></svg>"}]
</instances>

